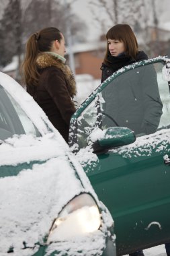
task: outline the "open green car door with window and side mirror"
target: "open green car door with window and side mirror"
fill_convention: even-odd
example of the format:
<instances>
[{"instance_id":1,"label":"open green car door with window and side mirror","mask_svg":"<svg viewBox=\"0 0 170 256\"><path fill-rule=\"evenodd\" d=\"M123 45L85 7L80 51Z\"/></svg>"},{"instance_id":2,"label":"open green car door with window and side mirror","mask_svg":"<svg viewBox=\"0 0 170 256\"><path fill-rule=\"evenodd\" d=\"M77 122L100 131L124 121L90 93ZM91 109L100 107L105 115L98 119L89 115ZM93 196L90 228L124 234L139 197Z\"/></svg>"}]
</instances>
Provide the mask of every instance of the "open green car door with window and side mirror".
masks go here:
<instances>
[{"instance_id":1,"label":"open green car door with window and side mirror","mask_svg":"<svg viewBox=\"0 0 170 256\"><path fill-rule=\"evenodd\" d=\"M69 146L115 223L117 255L170 241L170 60L116 71L77 109Z\"/></svg>"}]
</instances>

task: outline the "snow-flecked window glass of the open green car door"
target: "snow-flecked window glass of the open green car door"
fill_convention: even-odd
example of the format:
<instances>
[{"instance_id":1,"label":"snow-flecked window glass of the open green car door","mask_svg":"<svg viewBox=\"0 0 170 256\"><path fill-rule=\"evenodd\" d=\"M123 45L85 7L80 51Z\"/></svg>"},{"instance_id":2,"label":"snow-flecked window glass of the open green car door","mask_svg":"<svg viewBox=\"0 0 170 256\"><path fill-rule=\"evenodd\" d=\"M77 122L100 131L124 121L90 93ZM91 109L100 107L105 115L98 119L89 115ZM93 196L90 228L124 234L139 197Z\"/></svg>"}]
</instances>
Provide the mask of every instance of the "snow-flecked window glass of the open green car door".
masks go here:
<instances>
[{"instance_id":1,"label":"snow-flecked window glass of the open green car door","mask_svg":"<svg viewBox=\"0 0 170 256\"><path fill-rule=\"evenodd\" d=\"M169 84L163 78L164 65L163 61L141 65L108 79L77 117L75 142L79 148L87 146L96 127L128 127L137 137L169 127Z\"/></svg>"}]
</instances>

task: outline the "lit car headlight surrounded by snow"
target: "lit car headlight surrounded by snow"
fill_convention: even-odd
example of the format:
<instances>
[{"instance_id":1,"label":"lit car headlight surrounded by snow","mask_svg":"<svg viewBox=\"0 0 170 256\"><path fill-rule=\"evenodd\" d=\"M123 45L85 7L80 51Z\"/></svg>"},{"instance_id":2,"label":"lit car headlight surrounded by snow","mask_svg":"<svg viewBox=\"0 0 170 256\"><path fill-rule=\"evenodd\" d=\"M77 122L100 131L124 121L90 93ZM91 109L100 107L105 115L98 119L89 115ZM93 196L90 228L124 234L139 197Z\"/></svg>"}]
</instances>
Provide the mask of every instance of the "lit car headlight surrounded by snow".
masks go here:
<instances>
[{"instance_id":1,"label":"lit car headlight surrounded by snow","mask_svg":"<svg viewBox=\"0 0 170 256\"><path fill-rule=\"evenodd\" d=\"M71 200L60 212L50 228L48 241L63 241L73 236L93 232L101 225L99 209L89 194Z\"/></svg>"}]
</instances>

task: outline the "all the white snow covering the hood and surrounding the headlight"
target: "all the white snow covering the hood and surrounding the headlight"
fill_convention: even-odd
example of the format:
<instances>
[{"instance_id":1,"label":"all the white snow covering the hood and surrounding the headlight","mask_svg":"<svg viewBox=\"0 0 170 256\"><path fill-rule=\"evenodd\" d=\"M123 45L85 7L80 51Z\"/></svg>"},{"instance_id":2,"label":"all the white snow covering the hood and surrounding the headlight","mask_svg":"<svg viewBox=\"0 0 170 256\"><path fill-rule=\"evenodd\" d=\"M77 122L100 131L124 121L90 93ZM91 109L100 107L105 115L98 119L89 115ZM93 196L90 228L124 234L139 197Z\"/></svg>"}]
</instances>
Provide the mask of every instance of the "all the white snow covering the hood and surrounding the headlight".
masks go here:
<instances>
[{"instance_id":1,"label":"all the white snow covering the hood and surrounding the headlight","mask_svg":"<svg viewBox=\"0 0 170 256\"><path fill-rule=\"evenodd\" d=\"M105 222L103 232L107 232L107 227L113 224L112 217L98 201L81 165L69 151L69 147L60 144L56 138L54 133L43 137L17 135L2 141L0 145L0 170L3 166L15 170L15 166L24 162L44 161L21 170L16 176L0 175L1 256L6 256L10 247L14 247L13 256L30 256L36 253L39 245L35 243L43 244L44 236L48 234L62 207L75 195L83 192L91 193L100 205ZM103 232L97 230L75 240L58 242L57 250L61 253L58 255L62 255L65 250L71 256L79 255L77 251L83 251L85 255L102 254L105 247ZM30 248L23 250L23 242ZM46 255L55 250L56 244L52 243L46 249Z\"/></svg>"}]
</instances>

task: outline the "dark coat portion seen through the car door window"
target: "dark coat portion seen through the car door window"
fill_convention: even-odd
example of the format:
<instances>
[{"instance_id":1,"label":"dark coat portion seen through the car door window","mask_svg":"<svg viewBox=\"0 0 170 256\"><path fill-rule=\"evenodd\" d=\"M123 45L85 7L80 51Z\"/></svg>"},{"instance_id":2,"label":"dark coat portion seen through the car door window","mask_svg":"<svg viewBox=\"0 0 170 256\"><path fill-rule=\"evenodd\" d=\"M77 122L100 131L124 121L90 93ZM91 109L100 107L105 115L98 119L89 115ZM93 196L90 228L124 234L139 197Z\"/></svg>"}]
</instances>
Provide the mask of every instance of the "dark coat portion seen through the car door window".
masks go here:
<instances>
[{"instance_id":1,"label":"dark coat portion seen through the car door window","mask_svg":"<svg viewBox=\"0 0 170 256\"><path fill-rule=\"evenodd\" d=\"M154 133L163 108L157 73L153 65L135 70L118 76L103 90L103 112L106 114L103 125L129 127L136 134Z\"/></svg>"}]
</instances>

